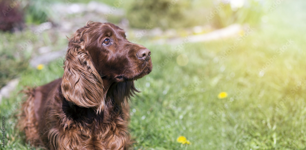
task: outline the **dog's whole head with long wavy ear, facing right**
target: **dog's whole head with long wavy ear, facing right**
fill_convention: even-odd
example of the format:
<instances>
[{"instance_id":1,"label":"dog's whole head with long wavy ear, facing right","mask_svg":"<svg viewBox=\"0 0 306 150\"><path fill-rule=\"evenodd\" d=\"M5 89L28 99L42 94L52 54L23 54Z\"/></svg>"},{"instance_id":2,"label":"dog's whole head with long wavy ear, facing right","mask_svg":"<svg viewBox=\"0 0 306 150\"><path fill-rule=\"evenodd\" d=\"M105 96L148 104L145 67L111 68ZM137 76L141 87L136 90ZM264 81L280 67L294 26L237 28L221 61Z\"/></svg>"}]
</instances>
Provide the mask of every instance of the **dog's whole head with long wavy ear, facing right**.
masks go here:
<instances>
[{"instance_id":1,"label":"dog's whole head with long wavy ear, facing right","mask_svg":"<svg viewBox=\"0 0 306 150\"><path fill-rule=\"evenodd\" d=\"M63 95L76 105L102 111L110 84L132 82L151 72L150 55L114 24L89 22L69 39Z\"/></svg>"}]
</instances>

